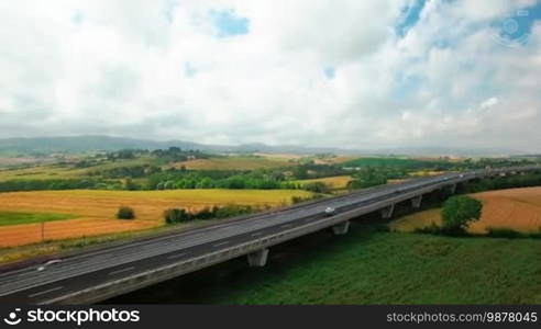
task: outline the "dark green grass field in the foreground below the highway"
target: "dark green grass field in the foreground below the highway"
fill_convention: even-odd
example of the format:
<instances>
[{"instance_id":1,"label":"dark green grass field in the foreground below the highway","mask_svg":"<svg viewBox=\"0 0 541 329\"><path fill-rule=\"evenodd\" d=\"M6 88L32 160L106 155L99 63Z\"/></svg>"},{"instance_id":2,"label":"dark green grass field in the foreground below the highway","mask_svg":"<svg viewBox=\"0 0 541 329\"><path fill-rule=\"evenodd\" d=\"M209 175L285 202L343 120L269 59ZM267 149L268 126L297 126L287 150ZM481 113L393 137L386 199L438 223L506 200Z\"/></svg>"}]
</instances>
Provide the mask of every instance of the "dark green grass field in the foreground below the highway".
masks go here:
<instances>
[{"instance_id":1,"label":"dark green grass field in the foreground below the highway","mask_svg":"<svg viewBox=\"0 0 541 329\"><path fill-rule=\"evenodd\" d=\"M357 230L247 276L205 303L540 304L541 241Z\"/></svg>"}]
</instances>

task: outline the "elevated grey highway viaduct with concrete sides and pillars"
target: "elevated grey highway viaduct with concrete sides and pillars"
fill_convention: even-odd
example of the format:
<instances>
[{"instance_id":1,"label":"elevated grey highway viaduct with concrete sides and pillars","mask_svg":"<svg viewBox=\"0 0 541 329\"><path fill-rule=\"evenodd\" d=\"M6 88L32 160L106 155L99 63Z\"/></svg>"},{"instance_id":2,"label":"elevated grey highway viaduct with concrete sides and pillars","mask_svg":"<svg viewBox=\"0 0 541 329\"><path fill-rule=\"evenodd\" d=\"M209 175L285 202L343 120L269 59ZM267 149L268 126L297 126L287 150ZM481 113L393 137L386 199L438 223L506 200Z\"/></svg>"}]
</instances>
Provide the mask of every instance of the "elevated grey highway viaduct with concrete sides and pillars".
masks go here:
<instances>
[{"instance_id":1,"label":"elevated grey highway viaduct with concrete sides and pillars","mask_svg":"<svg viewBox=\"0 0 541 329\"><path fill-rule=\"evenodd\" d=\"M539 167L509 168L490 174ZM174 235L125 242L63 259L43 271L27 266L0 273L1 304L87 304L258 251L422 194L473 179L481 171L446 173L301 204L277 212ZM420 198L419 198L420 201ZM332 216L327 207L335 208ZM265 254L266 259L266 254ZM263 261L264 263L265 261Z\"/></svg>"}]
</instances>

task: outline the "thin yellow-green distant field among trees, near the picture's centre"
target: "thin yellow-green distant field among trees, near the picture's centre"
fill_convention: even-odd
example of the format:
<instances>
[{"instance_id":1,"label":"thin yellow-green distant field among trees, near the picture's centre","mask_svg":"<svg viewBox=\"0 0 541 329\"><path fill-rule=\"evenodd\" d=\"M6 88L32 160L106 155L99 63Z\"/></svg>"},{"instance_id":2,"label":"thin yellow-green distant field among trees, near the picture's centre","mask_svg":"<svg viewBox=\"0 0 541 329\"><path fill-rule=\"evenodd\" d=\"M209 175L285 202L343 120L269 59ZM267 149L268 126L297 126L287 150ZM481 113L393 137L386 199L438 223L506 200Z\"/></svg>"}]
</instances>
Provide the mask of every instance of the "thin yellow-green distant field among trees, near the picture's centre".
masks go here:
<instances>
[{"instance_id":1,"label":"thin yellow-green distant field among trees, near the picture's centre","mask_svg":"<svg viewBox=\"0 0 541 329\"><path fill-rule=\"evenodd\" d=\"M295 162L279 158L227 157L181 161L176 162L174 167L180 168L184 166L189 170L254 170L294 164Z\"/></svg>"}]
</instances>

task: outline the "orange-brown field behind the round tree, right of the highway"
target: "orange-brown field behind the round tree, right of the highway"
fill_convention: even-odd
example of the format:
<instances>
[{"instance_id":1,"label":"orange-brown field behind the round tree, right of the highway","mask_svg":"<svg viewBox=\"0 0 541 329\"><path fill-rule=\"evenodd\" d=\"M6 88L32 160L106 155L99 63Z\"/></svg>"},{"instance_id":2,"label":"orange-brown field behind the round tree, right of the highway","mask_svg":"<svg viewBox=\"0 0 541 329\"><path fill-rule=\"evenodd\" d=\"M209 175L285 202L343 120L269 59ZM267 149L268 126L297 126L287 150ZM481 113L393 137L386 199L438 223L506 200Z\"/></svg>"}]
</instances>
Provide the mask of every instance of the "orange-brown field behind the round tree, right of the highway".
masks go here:
<instances>
[{"instance_id":1,"label":"orange-brown field behind the round tree, right of the highway","mask_svg":"<svg viewBox=\"0 0 541 329\"><path fill-rule=\"evenodd\" d=\"M521 232L541 229L541 188L510 189L473 194L483 201L481 220L468 231L485 234L487 228L511 228ZM430 209L399 218L390 227L400 231L440 224L440 209Z\"/></svg>"}]
</instances>

